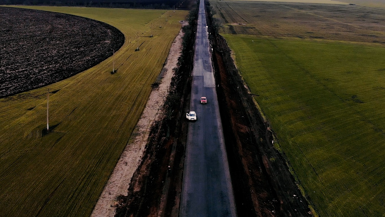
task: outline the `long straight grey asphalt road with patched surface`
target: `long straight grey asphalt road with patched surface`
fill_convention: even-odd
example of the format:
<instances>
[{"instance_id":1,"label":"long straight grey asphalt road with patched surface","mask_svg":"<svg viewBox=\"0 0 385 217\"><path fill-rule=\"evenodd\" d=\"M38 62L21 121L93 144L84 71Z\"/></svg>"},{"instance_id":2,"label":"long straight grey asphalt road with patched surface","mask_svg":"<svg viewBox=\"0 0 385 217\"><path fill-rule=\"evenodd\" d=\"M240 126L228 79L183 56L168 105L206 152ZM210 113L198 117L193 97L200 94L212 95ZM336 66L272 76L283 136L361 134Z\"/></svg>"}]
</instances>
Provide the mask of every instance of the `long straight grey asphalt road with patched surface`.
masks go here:
<instances>
[{"instance_id":1,"label":"long straight grey asphalt road with patched surface","mask_svg":"<svg viewBox=\"0 0 385 217\"><path fill-rule=\"evenodd\" d=\"M197 120L188 128L181 217L236 216L210 49L201 0L190 101ZM207 98L207 104L200 104L201 97Z\"/></svg>"}]
</instances>

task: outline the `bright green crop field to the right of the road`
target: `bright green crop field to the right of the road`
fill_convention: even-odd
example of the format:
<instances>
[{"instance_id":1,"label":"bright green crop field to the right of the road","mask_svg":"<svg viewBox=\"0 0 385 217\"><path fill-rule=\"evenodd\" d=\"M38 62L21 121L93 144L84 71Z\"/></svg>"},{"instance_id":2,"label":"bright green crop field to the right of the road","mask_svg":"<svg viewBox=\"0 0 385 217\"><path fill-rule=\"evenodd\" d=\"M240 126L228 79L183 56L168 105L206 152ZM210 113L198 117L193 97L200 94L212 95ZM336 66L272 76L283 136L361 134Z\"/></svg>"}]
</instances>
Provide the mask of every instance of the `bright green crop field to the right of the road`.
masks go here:
<instances>
[{"instance_id":1,"label":"bright green crop field to the right of the road","mask_svg":"<svg viewBox=\"0 0 385 217\"><path fill-rule=\"evenodd\" d=\"M224 37L316 211L383 216L385 48Z\"/></svg>"}]
</instances>

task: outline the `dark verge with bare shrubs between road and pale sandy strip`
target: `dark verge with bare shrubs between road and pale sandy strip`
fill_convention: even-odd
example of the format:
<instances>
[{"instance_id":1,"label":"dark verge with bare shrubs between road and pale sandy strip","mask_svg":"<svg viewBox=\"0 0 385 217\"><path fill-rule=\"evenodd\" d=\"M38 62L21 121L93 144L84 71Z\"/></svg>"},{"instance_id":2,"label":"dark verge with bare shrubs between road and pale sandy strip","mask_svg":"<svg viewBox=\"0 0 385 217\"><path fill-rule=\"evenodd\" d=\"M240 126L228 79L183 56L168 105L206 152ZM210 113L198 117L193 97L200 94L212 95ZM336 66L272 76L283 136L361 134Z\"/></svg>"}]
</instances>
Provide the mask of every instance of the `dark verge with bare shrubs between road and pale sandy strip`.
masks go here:
<instances>
[{"instance_id":1,"label":"dark verge with bare shrubs between road and pale sandy strip","mask_svg":"<svg viewBox=\"0 0 385 217\"><path fill-rule=\"evenodd\" d=\"M178 216L188 126L182 116L183 111L189 107L189 75L192 70L198 12L192 11L195 14L190 12L189 25L182 27L182 54L174 68L169 94L162 107L163 119L151 127L143 157L132 176L127 196L117 197L114 205L117 217Z\"/></svg>"}]
</instances>

